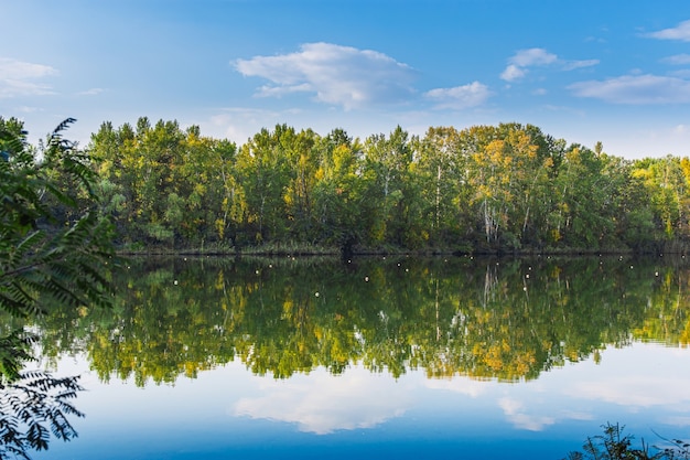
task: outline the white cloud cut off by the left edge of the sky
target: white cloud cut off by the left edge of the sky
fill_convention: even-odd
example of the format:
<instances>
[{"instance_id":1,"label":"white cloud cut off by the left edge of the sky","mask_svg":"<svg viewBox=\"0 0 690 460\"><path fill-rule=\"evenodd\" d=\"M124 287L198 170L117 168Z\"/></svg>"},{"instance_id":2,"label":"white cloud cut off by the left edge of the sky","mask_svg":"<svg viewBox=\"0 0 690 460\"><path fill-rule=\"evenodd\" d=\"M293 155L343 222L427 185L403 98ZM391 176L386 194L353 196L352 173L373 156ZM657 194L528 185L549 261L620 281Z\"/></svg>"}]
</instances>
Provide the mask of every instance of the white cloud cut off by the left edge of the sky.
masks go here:
<instances>
[{"instance_id":1,"label":"white cloud cut off by the left edge of the sky","mask_svg":"<svg viewBox=\"0 0 690 460\"><path fill-rule=\"evenodd\" d=\"M53 94L51 86L36 79L57 75L48 65L0 57L0 98Z\"/></svg>"}]
</instances>

